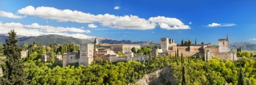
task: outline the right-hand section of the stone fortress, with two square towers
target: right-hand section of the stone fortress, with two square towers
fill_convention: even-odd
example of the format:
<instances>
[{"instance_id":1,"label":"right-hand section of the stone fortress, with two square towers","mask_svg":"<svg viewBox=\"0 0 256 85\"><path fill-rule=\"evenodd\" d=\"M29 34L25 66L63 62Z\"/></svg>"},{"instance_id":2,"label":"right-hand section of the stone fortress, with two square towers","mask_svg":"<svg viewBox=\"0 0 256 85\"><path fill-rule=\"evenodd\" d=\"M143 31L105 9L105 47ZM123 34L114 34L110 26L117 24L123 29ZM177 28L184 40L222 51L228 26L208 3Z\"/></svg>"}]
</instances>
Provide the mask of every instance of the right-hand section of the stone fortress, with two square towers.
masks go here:
<instances>
[{"instance_id":1,"label":"right-hand section of the stone fortress, with two square towers","mask_svg":"<svg viewBox=\"0 0 256 85\"><path fill-rule=\"evenodd\" d=\"M211 43L178 46L174 39L161 38L161 49L156 48L154 52L154 56L158 56L158 54L167 54L169 56L179 54L181 56L182 53L183 56L201 56L204 59L221 58L236 60L236 51L229 50L228 48L228 36L225 39L219 39L219 46L214 46Z\"/></svg>"}]
</instances>

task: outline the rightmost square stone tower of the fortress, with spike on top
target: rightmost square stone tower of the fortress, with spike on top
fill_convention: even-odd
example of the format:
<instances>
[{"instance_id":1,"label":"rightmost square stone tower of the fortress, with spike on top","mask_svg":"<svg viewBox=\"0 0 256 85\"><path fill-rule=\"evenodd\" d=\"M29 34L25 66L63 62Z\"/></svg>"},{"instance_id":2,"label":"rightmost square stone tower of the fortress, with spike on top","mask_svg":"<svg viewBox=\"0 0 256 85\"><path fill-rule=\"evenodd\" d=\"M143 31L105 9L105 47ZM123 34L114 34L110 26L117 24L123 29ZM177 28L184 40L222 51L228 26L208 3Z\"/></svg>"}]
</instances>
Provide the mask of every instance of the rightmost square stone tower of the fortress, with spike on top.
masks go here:
<instances>
[{"instance_id":1,"label":"rightmost square stone tower of the fortress, with spike on top","mask_svg":"<svg viewBox=\"0 0 256 85\"><path fill-rule=\"evenodd\" d=\"M229 52L228 36L226 36L226 39L219 39L219 52Z\"/></svg>"}]
</instances>

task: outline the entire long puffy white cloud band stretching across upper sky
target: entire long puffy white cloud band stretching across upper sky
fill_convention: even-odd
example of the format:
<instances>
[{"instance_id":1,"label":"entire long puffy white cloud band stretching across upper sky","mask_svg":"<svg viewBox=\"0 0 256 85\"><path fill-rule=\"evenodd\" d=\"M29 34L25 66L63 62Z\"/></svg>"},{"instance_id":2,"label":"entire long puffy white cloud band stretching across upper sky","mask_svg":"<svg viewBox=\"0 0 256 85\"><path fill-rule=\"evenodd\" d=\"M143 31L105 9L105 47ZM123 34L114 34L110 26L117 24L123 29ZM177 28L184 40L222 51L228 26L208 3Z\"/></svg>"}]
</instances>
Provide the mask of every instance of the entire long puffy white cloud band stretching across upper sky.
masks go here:
<instances>
[{"instance_id":1,"label":"entire long puffy white cloud band stretching across upper sky","mask_svg":"<svg viewBox=\"0 0 256 85\"><path fill-rule=\"evenodd\" d=\"M77 23L99 23L101 25L116 29L154 29L160 25L163 29L189 29L177 18L165 18L164 16L152 17L148 20L139 18L139 16L125 15L116 16L113 14L90 14L69 9L55 9L53 7L24 7L18 10L18 13L29 16L39 16L60 22L77 22ZM165 21L167 20L167 21Z\"/></svg>"}]
</instances>

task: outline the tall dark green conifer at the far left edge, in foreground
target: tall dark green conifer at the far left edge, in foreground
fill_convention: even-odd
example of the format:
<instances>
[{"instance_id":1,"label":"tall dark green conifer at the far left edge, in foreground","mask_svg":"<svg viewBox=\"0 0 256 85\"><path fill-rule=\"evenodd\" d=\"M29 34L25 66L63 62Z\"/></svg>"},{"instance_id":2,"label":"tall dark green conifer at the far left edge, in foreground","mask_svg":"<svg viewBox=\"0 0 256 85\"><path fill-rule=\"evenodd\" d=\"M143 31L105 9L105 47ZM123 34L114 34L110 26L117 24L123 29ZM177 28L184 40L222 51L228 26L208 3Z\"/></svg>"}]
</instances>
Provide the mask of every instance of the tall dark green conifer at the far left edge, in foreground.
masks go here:
<instances>
[{"instance_id":1,"label":"tall dark green conifer at the far left edge, in foreground","mask_svg":"<svg viewBox=\"0 0 256 85\"><path fill-rule=\"evenodd\" d=\"M3 76L3 84L26 84L26 76L24 73L24 64L21 58L20 46L16 33L11 30L9 39L5 40L4 55L7 57L6 66L7 73Z\"/></svg>"}]
</instances>

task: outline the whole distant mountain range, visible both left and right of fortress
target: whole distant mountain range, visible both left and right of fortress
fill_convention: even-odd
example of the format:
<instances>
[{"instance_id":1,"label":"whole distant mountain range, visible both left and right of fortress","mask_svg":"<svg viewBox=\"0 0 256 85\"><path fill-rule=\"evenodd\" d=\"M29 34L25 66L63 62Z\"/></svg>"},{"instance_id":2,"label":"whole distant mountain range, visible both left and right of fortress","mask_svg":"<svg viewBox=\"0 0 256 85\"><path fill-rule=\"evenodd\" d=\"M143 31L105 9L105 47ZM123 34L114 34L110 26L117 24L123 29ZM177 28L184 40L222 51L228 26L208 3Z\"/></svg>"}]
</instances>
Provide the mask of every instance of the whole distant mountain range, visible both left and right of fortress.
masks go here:
<instances>
[{"instance_id":1,"label":"whole distant mountain range, visible both left and right of fortress","mask_svg":"<svg viewBox=\"0 0 256 85\"><path fill-rule=\"evenodd\" d=\"M6 35L0 35L0 44L5 43L5 39L8 39ZM93 42L95 39L77 39L74 37L66 37L62 35L42 35L37 37L22 37L18 36L19 44L32 44L34 41L39 44L63 44L63 43L85 43L85 42ZM109 43L109 44L140 44L141 46L160 46L157 42L151 42L151 41L139 41L139 42L133 42L130 40L114 40L114 39L103 39L98 38L101 43ZM256 44L253 44L251 42L234 42L229 45L229 48L236 50L236 48L241 47L242 50L256 50Z\"/></svg>"}]
</instances>

